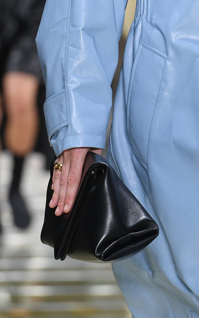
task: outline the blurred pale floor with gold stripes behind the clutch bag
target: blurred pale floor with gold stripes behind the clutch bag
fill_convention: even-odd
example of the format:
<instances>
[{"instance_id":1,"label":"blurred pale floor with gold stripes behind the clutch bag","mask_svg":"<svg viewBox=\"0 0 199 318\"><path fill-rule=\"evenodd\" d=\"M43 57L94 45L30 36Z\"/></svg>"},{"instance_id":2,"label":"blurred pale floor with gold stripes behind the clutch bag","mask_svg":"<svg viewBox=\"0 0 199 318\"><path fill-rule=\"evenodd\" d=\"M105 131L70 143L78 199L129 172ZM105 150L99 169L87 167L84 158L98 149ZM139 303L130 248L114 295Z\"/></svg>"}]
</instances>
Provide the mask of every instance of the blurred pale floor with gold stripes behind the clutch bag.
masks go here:
<instances>
[{"instance_id":1,"label":"blurred pale floor with gold stripes behind the clutch bag","mask_svg":"<svg viewBox=\"0 0 199 318\"><path fill-rule=\"evenodd\" d=\"M43 161L36 153L26 161L22 191L32 223L20 232L6 200L12 161L1 154L0 318L130 318L110 264L55 261L53 249L40 242L49 178Z\"/></svg>"}]
</instances>

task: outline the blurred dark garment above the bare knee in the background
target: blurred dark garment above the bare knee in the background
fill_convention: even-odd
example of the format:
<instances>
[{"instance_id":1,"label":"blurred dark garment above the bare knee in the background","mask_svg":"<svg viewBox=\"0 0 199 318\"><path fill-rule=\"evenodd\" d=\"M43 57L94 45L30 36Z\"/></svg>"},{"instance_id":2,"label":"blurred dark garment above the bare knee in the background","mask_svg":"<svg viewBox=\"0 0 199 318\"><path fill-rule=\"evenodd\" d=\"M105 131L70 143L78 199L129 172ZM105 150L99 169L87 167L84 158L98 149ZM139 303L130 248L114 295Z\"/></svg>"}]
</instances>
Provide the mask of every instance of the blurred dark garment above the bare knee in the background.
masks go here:
<instances>
[{"instance_id":1,"label":"blurred dark garment above the bare knee in the background","mask_svg":"<svg viewBox=\"0 0 199 318\"><path fill-rule=\"evenodd\" d=\"M42 80L35 37L45 0L0 0L0 76L21 71Z\"/></svg>"}]
</instances>

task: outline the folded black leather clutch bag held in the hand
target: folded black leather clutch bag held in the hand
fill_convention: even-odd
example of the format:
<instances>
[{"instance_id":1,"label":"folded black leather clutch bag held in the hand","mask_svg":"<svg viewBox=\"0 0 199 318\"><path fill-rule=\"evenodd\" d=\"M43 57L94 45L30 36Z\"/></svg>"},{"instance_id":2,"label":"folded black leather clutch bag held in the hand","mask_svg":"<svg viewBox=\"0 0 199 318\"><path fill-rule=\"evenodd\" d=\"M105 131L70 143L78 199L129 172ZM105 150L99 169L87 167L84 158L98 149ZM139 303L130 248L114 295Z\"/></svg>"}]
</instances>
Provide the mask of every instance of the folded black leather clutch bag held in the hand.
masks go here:
<instances>
[{"instance_id":1,"label":"folded black leather clutch bag held in the hand","mask_svg":"<svg viewBox=\"0 0 199 318\"><path fill-rule=\"evenodd\" d=\"M54 248L55 259L99 263L128 258L159 233L158 225L102 156L89 152L82 181L70 213L55 216L49 207L52 174L47 188L41 241Z\"/></svg>"}]
</instances>

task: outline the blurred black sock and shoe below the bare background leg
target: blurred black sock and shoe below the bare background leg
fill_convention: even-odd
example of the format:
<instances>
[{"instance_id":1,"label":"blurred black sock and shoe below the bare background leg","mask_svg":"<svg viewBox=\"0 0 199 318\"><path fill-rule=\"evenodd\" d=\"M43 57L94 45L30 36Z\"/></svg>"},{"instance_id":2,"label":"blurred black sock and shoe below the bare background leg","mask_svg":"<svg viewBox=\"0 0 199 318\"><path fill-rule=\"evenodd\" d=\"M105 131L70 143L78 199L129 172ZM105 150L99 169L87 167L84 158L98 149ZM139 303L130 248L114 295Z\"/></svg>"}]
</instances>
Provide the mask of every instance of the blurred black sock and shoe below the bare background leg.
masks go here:
<instances>
[{"instance_id":1,"label":"blurred black sock and shoe below the bare background leg","mask_svg":"<svg viewBox=\"0 0 199 318\"><path fill-rule=\"evenodd\" d=\"M19 191L23 163L24 157L14 157L13 177L9 192L9 201L12 206L14 223L21 229L28 227L31 221L30 214Z\"/></svg>"}]
</instances>

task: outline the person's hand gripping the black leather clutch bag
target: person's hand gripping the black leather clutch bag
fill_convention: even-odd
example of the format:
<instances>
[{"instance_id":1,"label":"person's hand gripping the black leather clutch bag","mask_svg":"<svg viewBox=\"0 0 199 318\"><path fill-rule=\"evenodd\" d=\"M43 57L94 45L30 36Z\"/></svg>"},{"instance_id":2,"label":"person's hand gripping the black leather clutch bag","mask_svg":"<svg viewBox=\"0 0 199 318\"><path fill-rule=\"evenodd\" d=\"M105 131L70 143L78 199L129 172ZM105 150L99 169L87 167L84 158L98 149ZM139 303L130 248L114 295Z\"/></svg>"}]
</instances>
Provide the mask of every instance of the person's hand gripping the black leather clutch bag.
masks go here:
<instances>
[{"instance_id":1,"label":"person's hand gripping the black leather clutch bag","mask_svg":"<svg viewBox=\"0 0 199 318\"><path fill-rule=\"evenodd\" d=\"M49 204L50 208L55 208L56 215L71 211L79 188L82 168L88 151L93 151L99 155L102 149L96 148L72 148L64 150L58 156L57 161L62 163L62 171L55 170L52 177L53 195Z\"/></svg>"}]
</instances>

